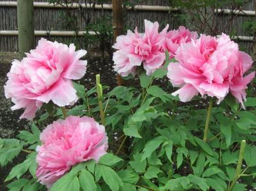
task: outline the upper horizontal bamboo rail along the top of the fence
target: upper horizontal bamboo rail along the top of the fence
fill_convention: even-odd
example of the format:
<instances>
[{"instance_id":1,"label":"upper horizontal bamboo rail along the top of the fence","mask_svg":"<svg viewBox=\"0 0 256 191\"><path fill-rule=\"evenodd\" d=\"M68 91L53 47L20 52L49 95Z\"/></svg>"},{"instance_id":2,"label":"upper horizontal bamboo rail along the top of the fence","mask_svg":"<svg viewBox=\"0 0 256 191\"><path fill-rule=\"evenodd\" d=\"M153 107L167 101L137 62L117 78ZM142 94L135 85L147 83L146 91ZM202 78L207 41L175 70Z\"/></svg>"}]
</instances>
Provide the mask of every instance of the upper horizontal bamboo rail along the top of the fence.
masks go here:
<instances>
[{"instance_id":1,"label":"upper horizontal bamboo rail along the top of the fence","mask_svg":"<svg viewBox=\"0 0 256 191\"><path fill-rule=\"evenodd\" d=\"M0 2L0 7L16 7L17 2L15 1L2 1ZM87 8L87 9L105 9L105 10L112 10L111 4L68 4L68 6L62 6L62 5L56 5L56 4L49 4L47 2L34 2L35 8L59 8L59 9L65 9L65 8L73 8L77 9L79 7ZM138 10L138 11L178 11L178 8L173 8L169 6L156 6L156 5L135 5L134 7L128 7L128 10ZM231 9L215 9L215 13L222 13L226 15L245 15L245 16L255 16L255 11L246 11L246 10L231 10Z\"/></svg>"}]
</instances>

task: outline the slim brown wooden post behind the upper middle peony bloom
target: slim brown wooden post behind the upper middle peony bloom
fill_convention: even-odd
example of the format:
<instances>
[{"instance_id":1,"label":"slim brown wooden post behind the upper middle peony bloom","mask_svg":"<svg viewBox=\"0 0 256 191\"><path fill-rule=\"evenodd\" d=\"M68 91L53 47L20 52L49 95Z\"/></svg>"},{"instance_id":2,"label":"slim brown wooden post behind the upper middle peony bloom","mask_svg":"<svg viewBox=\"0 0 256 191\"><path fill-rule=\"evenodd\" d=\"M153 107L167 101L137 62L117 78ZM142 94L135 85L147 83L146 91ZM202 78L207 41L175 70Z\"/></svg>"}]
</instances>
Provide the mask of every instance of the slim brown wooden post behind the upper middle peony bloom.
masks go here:
<instances>
[{"instance_id":1,"label":"slim brown wooden post behind the upper middle peony bloom","mask_svg":"<svg viewBox=\"0 0 256 191\"><path fill-rule=\"evenodd\" d=\"M123 33L123 16L122 16L122 0L112 0L113 6L113 32L114 41L117 36ZM117 85L123 85L124 81L120 75L117 74Z\"/></svg>"}]
</instances>

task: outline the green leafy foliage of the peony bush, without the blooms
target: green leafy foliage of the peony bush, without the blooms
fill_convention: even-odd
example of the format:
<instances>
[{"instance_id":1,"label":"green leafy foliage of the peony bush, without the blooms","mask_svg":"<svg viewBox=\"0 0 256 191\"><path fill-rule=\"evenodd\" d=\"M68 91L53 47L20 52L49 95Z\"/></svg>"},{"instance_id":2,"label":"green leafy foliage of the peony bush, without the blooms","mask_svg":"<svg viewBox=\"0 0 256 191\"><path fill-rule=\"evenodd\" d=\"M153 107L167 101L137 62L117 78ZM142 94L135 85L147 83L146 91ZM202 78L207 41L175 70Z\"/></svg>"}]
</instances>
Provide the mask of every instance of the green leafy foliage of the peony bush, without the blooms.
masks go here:
<instances>
[{"instance_id":1,"label":"green leafy foliage of the peony bush, without the blooms","mask_svg":"<svg viewBox=\"0 0 256 191\"><path fill-rule=\"evenodd\" d=\"M175 61L167 57L166 62ZM178 97L166 92L164 87L152 85L156 78L166 75L165 67L150 77L141 72L141 89L118 86L107 92L108 86L103 85L108 154L97 163L89 160L76 164L53 184L51 191L225 191L237 175L241 140L247 140L244 165L238 175L239 184L232 190L255 186L255 98L247 99L247 110L241 110L231 95L213 107L209 138L204 142L207 106L179 104ZM74 88L80 105L67 108L67 115L91 115L99 122L96 87L86 91L83 85L74 83ZM63 117L61 109L54 108L56 112L51 117ZM0 139L1 166L20 151L29 153L7 176L6 181L13 180L7 185L10 190L46 189L35 177L34 152L41 144L37 126L50 116L46 114L31 123L31 131L20 131L19 139ZM117 140L113 138L115 132L119 136Z\"/></svg>"}]
</instances>

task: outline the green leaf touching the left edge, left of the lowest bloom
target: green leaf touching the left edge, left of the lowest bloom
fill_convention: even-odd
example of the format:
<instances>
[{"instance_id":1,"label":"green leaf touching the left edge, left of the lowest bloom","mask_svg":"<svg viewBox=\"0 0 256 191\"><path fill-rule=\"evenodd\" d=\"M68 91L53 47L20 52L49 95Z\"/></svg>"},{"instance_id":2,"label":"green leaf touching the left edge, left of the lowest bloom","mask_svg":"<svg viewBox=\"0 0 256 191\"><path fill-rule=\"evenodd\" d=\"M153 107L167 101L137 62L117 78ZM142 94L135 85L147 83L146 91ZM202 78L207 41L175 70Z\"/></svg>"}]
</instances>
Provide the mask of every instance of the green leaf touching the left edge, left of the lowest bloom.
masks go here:
<instances>
[{"instance_id":1,"label":"green leaf touching the left edge, left of the lowest bloom","mask_svg":"<svg viewBox=\"0 0 256 191\"><path fill-rule=\"evenodd\" d=\"M4 144L0 149L0 164L5 166L15 156L19 155L23 145L17 139L3 139Z\"/></svg>"}]
</instances>

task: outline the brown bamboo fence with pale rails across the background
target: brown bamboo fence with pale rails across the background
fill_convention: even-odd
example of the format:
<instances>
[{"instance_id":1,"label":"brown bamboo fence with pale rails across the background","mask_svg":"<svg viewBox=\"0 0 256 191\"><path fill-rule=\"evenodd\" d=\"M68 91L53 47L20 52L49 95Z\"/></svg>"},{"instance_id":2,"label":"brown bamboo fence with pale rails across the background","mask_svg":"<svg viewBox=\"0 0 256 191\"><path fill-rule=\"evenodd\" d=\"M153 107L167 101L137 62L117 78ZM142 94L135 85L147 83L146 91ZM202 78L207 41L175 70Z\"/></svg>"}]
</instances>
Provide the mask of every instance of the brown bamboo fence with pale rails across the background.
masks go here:
<instances>
[{"instance_id":1,"label":"brown bamboo fence with pale rails across the background","mask_svg":"<svg viewBox=\"0 0 256 191\"><path fill-rule=\"evenodd\" d=\"M88 23L96 23L98 18L104 16L111 18L112 7L109 1L106 1L103 6L95 6L93 9L86 4L86 0L81 0L80 5L73 5L74 9L85 9L84 15L78 16L78 36L82 36L85 32L91 35L95 31L85 31ZM158 21L163 27L166 23L170 25L171 29L176 29L179 25L185 25L182 18L173 14L177 8L168 7L168 0L134 0L137 4L133 8L124 11L124 25L134 29L138 26L139 31L144 30L144 19L151 21ZM85 8L87 7L87 8ZM35 27L35 42L41 37L49 38L50 40L57 40L59 42L72 42L74 32L65 26L65 18L61 17L61 13L65 8L49 5L47 0L36 0L34 2L34 27ZM219 31L230 34L235 33L237 42L242 49L251 53L255 46L255 37L252 31L245 30L243 24L251 19L255 19L254 0L251 0L243 11L236 12L237 16L232 20L230 27L224 27L230 20L230 10L215 10L218 15L217 28ZM221 12L221 13L220 13ZM84 19L86 18L86 19ZM109 25L112 24L111 19ZM234 31L235 30L235 31ZM15 0L3 1L0 0L0 51L18 51L17 38L17 7ZM98 44L91 44L93 47Z\"/></svg>"}]
</instances>

